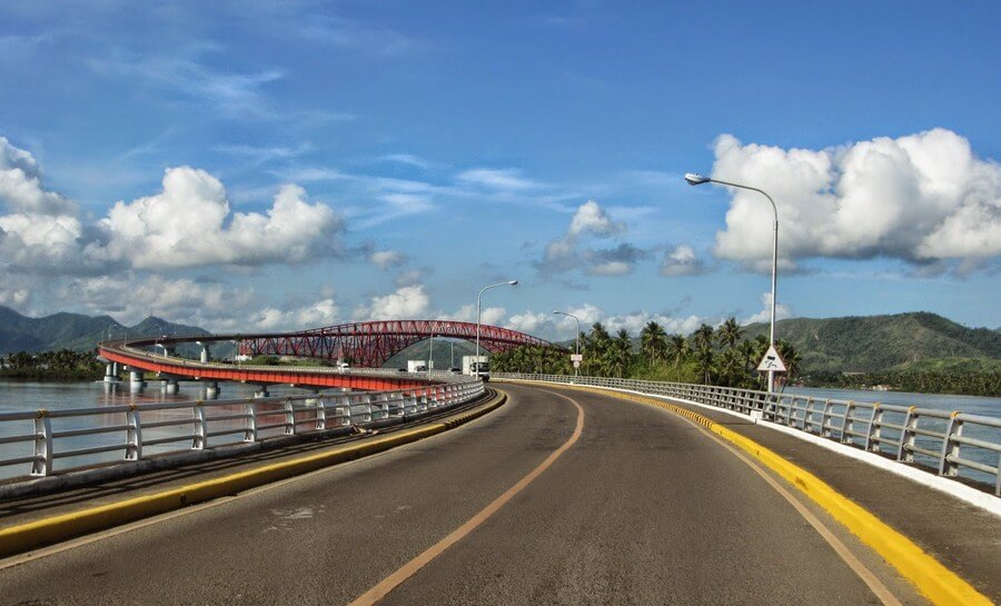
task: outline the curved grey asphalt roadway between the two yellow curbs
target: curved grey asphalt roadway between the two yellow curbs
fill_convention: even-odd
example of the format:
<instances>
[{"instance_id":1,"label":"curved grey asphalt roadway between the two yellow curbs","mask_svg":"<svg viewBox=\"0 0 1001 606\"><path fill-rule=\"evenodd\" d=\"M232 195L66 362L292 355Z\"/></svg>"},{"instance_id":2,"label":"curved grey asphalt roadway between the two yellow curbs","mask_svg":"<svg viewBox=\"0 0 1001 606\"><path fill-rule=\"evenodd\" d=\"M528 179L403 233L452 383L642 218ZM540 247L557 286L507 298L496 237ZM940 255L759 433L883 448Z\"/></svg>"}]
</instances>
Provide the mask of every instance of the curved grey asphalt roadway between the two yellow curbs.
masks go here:
<instances>
[{"instance_id":1,"label":"curved grey asphalt roadway between the two yellow curbs","mask_svg":"<svg viewBox=\"0 0 1001 606\"><path fill-rule=\"evenodd\" d=\"M379 604L880 603L765 479L690 423L596 394L503 389L507 405L454 431L0 563L0 602L349 604L390 577ZM921 603L860 557L904 604Z\"/></svg>"}]
</instances>

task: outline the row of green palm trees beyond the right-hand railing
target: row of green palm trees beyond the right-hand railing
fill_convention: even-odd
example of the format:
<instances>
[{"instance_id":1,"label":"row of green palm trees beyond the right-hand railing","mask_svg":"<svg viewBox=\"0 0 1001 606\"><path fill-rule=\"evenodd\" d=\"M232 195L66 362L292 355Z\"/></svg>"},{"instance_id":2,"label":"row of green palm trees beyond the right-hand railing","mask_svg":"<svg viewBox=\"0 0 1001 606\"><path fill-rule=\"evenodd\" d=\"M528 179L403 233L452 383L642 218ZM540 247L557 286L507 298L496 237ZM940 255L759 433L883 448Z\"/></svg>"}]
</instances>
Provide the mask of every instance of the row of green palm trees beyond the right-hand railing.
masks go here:
<instances>
[{"instance_id":1,"label":"row of green palm trees beyond the right-hand railing","mask_svg":"<svg viewBox=\"0 0 1001 606\"><path fill-rule=\"evenodd\" d=\"M625 328L612 335L602 322L595 322L589 334L581 334L581 374L763 389L765 377L756 368L769 349L769 339L743 336L736 318L726 319L717 328L703 324L687 337L668 335L663 326L651 321L640 332L638 342ZM775 347L787 368L785 378L795 380L801 370L800 352L784 340L776 341ZM490 368L549 375L574 371L565 351L535 346L495 354Z\"/></svg>"}]
</instances>

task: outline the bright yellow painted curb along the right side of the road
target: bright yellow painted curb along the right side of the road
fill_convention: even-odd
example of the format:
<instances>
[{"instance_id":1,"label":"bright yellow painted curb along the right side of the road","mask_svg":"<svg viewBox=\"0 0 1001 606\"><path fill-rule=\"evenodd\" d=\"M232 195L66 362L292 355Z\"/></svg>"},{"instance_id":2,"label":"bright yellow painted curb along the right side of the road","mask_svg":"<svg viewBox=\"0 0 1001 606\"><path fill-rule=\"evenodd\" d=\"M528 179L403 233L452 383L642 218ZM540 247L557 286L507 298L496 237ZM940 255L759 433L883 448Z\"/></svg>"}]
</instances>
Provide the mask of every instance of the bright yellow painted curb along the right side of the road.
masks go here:
<instances>
[{"instance_id":1,"label":"bright yellow painted curb along the right side of the road","mask_svg":"<svg viewBox=\"0 0 1001 606\"><path fill-rule=\"evenodd\" d=\"M515 381L512 381L515 383ZM543 381L532 381L538 384ZM911 539L898 533L876 516L859 506L830 485L794 465L776 453L761 446L756 441L746 438L736 431L727 429L712 419L683 408L681 406L644 396L634 396L606 389L596 389L583 386L558 385L568 389L578 389L613 396L615 398L638 401L653 405L671 413L681 415L686 419L704 426L707 430L718 435L723 439L737 446L753 456L769 469L775 471L783 479L795 486L801 493L810 497L814 503L823 507L834 519L844 525L859 537L862 543L869 545L880 556L890 563L908 580L930 599L941 606L975 606L992 604L983 594L973 588L955 573L943 566L939 560L924 553L921 547Z\"/></svg>"}]
</instances>

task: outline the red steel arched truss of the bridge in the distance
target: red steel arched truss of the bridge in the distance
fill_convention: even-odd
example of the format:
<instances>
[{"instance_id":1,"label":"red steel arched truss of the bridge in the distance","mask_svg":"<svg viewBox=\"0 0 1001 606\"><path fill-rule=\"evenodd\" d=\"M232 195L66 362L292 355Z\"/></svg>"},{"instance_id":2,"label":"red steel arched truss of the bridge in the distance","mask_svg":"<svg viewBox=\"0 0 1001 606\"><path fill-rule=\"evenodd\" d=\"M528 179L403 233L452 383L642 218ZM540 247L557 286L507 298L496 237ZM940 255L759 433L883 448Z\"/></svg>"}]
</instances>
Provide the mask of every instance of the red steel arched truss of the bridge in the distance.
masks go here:
<instances>
[{"instance_id":1,"label":"red steel arched truss of the bridge in the distance","mask_svg":"<svg viewBox=\"0 0 1001 606\"><path fill-rule=\"evenodd\" d=\"M297 356L349 360L353 366L378 368L394 355L432 337L476 340L476 324L450 320L378 320L314 328L301 332L247 335L240 354ZM525 345L558 347L547 340L498 326L479 325L479 346L488 352Z\"/></svg>"}]
</instances>

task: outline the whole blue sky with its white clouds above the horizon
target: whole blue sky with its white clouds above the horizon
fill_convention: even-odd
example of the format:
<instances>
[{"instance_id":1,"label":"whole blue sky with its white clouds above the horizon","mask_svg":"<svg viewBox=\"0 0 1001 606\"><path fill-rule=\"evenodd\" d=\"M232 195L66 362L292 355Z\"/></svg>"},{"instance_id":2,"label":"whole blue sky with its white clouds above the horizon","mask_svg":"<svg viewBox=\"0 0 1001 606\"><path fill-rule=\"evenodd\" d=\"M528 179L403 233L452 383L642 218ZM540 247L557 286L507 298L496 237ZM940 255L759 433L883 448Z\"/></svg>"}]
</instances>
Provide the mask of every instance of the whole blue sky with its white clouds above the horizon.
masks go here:
<instances>
[{"instance_id":1,"label":"whole blue sky with its white clouds above the horizon","mask_svg":"<svg viewBox=\"0 0 1001 606\"><path fill-rule=\"evenodd\" d=\"M0 304L548 337L931 310L1001 326L1001 9L8 2Z\"/></svg>"}]
</instances>

